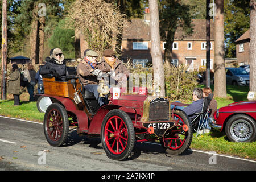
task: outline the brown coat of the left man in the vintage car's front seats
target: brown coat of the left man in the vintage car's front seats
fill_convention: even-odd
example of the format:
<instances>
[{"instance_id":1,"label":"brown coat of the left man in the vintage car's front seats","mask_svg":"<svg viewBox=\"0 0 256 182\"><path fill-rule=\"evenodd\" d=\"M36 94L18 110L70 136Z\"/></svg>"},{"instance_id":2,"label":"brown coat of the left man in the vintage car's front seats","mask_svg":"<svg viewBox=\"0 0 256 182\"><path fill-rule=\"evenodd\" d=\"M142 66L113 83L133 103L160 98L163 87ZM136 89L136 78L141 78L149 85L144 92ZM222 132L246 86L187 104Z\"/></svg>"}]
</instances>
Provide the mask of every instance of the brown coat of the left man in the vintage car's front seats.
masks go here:
<instances>
[{"instance_id":1,"label":"brown coat of the left man in the vintage car's front seats","mask_svg":"<svg viewBox=\"0 0 256 182\"><path fill-rule=\"evenodd\" d=\"M98 64L95 69L98 69ZM98 84L97 76L92 74L93 70L94 69L86 63L85 60L80 61L77 65L76 75L80 78L82 85Z\"/></svg>"}]
</instances>

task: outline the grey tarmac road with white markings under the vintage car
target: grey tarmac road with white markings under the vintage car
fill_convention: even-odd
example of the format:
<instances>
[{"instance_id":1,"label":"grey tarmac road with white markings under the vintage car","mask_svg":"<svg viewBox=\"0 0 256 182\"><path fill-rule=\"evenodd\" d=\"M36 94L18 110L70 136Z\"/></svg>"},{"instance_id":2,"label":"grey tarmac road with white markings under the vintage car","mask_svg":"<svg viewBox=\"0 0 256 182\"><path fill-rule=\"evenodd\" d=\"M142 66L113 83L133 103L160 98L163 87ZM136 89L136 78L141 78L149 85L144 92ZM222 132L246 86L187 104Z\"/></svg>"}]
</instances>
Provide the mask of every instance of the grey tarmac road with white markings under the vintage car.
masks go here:
<instances>
[{"instance_id":1,"label":"grey tarmac road with white markings under the vintage car","mask_svg":"<svg viewBox=\"0 0 256 182\"><path fill-rule=\"evenodd\" d=\"M255 171L256 161L188 150L167 155L158 143L135 142L125 161L109 159L100 138L69 133L64 147L51 147L42 123L0 117L0 171Z\"/></svg>"}]
</instances>

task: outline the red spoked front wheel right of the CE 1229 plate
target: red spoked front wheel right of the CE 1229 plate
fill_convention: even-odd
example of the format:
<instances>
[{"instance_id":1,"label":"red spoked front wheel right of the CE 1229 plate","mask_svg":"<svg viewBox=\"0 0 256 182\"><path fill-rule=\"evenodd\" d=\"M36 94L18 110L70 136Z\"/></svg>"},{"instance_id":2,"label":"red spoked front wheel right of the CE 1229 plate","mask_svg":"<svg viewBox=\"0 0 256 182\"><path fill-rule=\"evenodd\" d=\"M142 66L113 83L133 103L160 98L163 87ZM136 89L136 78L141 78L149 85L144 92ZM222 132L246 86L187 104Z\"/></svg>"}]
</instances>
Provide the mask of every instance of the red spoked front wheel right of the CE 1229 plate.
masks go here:
<instances>
[{"instance_id":1,"label":"red spoked front wheel right of the CE 1229 plate","mask_svg":"<svg viewBox=\"0 0 256 182\"><path fill-rule=\"evenodd\" d=\"M175 126L166 132L160 143L168 154L179 155L190 146L193 129L187 114L183 111L175 110L174 119L177 121Z\"/></svg>"}]
</instances>

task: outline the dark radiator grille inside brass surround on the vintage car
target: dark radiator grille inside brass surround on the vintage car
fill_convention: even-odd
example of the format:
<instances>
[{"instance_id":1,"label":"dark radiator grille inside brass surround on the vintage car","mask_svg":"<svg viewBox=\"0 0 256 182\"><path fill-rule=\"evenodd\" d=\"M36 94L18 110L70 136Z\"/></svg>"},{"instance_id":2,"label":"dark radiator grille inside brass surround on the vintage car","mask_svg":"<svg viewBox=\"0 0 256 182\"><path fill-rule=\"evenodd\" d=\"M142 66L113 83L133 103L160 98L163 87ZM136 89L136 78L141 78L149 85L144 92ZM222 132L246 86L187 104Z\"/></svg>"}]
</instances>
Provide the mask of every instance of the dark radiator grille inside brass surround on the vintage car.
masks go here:
<instances>
[{"instance_id":1,"label":"dark radiator grille inside brass surround on the vintage car","mask_svg":"<svg viewBox=\"0 0 256 182\"><path fill-rule=\"evenodd\" d=\"M148 121L167 121L169 120L169 102L161 97L150 102Z\"/></svg>"}]
</instances>

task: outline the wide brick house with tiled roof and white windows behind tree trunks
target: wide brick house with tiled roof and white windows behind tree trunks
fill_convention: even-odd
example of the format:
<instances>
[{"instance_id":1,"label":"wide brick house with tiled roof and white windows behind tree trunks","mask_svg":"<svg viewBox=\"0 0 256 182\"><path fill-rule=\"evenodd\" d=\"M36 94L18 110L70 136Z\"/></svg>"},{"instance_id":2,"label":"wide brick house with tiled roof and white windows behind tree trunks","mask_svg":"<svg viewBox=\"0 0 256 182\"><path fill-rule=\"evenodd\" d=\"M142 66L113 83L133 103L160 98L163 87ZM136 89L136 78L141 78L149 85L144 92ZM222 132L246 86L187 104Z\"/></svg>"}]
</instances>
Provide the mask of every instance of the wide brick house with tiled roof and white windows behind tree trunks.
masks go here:
<instances>
[{"instance_id":1,"label":"wide brick house with tiled roof and white windows behind tree trunks","mask_svg":"<svg viewBox=\"0 0 256 182\"><path fill-rule=\"evenodd\" d=\"M132 19L125 23L122 39L122 60L131 60L134 64L145 66L152 63L150 54L150 20L146 14L144 20ZM193 34L184 36L181 28L175 32L172 49L172 64L189 64L189 69L199 70L206 64L206 23L205 19L192 20ZM160 42L162 57L164 58L165 42ZM210 21L210 69L213 69L214 60L214 26Z\"/></svg>"}]
</instances>

